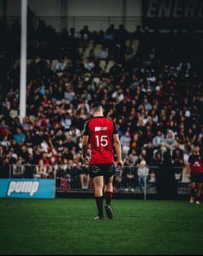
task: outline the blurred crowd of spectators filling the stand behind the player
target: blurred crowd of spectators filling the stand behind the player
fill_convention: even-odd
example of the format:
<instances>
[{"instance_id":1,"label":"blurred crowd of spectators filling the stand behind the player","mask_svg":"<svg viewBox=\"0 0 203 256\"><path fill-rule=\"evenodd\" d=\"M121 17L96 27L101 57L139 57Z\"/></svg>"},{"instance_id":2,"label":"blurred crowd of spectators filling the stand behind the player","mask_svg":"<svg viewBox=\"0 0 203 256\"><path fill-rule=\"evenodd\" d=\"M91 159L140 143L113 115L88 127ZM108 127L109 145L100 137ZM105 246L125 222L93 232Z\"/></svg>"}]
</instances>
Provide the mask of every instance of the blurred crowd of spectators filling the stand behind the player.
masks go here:
<instances>
[{"instance_id":1,"label":"blurred crowd of spectators filling the stand behind the player","mask_svg":"<svg viewBox=\"0 0 203 256\"><path fill-rule=\"evenodd\" d=\"M9 29L0 31L10 35ZM52 178L58 166L57 177L68 180L68 166L79 167L80 184L86 187L82 134L96 101L117 123L126 168L116 183L128 187L135 176L142 178L138 167L150 167L143 173L157 177L153 166L160 167L164 155L176 168L174 174L182 175L193 141L203 144L200 62L193 62L197 49L187 48L186 35L139 26L129 33L123 25L117 30L111 25L106 31L90 32L85 26L79 32L57 34L43 22L29 34L27 115L22 122L19 62L8 60L1 42L1 172L12 165L22 174L24 165L35 165L35 177ZM201 40L193 37L193 43Z\"/></svg>"}]
</instances>

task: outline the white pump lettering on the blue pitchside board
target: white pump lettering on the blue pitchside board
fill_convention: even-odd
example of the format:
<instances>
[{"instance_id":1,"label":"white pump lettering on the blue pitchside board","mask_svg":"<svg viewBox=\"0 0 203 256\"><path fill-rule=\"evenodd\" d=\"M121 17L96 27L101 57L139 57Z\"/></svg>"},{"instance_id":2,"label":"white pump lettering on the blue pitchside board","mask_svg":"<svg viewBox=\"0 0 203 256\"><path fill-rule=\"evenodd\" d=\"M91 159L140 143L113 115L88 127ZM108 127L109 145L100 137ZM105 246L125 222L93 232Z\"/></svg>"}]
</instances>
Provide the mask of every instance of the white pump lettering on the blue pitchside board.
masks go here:
<instances>
[{"instance_id":1,"label":"white pump lettering on the blue pitchside board","mask_svg":"<svg viewBox=\"0 0 203 256\"><path fill-rule=\"evenodd\" d=\"M40 186L39 181L10 181L7 195L10 196L12 193L29 193L33 196Z\"/></svg>"}]
</instances>

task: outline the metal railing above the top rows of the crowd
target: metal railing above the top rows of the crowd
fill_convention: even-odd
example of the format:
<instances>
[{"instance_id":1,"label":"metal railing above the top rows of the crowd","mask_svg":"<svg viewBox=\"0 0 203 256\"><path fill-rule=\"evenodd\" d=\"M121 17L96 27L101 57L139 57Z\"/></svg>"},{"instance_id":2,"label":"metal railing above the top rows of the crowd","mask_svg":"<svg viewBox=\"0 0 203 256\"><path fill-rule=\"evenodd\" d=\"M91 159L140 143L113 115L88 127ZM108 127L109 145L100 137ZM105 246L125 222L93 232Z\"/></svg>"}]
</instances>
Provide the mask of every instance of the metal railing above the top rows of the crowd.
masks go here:
<instances>
[{"instance_id":1,"label":"metal railing above the top rows of the crowd","mask_svg":"<svg viewBox=\"0 0 203 256\"><path fill-rule=\"evenodd\" d=\"M4 18L9 28L21 19L21 16L0 16L0 20ZM82 30L85 25L90 31L107 30L113 23L117 29L120 24L129 32L136 30L137 25L142 26L142 16L35 16L32 23L35 28L41 21L45 21L47 26L52 26L57 32L63 28L67 30L74 28L76 31Z\"/></svg>"}]
</instances>

